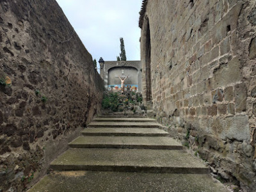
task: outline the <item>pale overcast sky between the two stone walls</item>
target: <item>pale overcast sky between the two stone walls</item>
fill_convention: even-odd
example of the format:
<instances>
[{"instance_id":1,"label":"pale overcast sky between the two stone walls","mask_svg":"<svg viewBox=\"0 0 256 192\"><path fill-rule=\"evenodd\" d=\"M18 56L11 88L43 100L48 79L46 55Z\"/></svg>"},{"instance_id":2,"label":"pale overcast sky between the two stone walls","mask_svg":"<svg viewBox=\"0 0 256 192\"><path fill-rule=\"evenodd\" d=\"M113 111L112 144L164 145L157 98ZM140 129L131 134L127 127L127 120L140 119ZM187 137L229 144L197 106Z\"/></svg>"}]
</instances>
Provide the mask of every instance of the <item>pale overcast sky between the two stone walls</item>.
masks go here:
<instances>
[{"instance_id":1,"label":"pale overcast sky between the two stone walls","mask_svg":"<svg viewBox=\"0 0 256 192\"><path fill-rule=\"evenodd\" d=\"M93 59L115 61L123 37L127 60L140 60L138 22L142 0L56 1Z\"/></svg>"}]
</instances>

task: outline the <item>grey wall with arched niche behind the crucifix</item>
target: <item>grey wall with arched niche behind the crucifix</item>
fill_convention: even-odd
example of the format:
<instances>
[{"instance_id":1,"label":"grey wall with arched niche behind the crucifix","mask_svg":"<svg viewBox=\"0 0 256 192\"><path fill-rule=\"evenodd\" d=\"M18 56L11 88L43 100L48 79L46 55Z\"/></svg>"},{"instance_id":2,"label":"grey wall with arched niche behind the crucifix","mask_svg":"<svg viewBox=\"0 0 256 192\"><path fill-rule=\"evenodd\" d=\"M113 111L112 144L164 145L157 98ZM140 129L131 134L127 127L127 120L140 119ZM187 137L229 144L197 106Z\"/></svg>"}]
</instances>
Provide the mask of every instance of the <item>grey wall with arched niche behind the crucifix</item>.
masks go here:
<instances>
[{"instance_id":1,"label":"grey wall with arched niche behind the crucifix","mask_svg":"<svg viewBox=\"0 0 256 192\"><path fill-rule=\"evenodd\" d=\"M104 61L100 58L100 77L104 80L104 87L108 91L120 91L121 80L124 90L141 92L141 61Z\"/></svg>"}]
</instances>

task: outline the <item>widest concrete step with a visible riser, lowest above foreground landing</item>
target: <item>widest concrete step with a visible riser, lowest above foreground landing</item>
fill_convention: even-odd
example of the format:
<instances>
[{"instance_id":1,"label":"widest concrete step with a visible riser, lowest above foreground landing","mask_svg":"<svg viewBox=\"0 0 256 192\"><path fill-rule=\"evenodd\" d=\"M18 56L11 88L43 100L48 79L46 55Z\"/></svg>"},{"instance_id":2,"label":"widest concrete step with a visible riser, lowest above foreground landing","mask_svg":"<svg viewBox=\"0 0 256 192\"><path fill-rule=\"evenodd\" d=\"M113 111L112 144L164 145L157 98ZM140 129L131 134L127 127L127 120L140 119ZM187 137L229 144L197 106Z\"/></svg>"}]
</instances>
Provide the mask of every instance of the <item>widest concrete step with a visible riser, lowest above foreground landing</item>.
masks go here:
<instances>
[{"instance_id":1,"label":"widest concrete step with a visible riser, lowest above foreground landing","mask_svg":"<svg viewBox=\"0 0 256 192\"><path fill-rule=\"evenodd\" d=\"M209 173L202 161L183 150L69 148L50 167L58 171Z\"/></svg>"}]
</instances>

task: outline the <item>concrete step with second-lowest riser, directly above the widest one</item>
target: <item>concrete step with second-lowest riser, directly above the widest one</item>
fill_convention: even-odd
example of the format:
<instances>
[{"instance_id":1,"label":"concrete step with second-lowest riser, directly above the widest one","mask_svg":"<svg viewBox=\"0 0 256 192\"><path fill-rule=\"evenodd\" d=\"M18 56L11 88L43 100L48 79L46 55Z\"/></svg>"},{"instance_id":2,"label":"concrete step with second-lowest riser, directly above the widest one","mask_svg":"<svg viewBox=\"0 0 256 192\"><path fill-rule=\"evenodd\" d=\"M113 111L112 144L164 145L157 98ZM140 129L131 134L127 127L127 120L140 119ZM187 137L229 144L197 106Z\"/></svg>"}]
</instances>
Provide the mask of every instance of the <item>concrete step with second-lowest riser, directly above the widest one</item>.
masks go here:
<instances>
[{"instance_id":1,"label":"concrete step with second-lowest riser, directly above the widest one","mask_svg":"<svg viewBox=\"0 0 256 192\"><path fill-rule=\"evenodd\" d=\"M182 149L182 145L168 137L138 136L81 136L69 143L73 148L152 148Z\"/></svg>"}]
</instances>

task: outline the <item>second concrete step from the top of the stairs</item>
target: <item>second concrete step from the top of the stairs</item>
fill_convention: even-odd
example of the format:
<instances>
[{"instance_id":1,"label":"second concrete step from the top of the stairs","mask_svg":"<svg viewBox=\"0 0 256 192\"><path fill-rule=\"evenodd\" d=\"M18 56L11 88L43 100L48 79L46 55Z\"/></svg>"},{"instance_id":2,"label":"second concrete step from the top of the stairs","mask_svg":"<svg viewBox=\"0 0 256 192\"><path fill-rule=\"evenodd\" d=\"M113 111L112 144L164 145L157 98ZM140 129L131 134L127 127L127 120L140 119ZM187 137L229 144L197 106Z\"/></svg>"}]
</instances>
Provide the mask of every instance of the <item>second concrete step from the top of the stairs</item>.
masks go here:
<instances>
[{"instance_id":1,"label":"second concrete step from the top of the stairs","mask_svg":"<svg viewBox=\"0 0 256 192\"><path fill-rule=\"evenodd\" d=\"M137 127L137 128L158 128L155 122L91 122L88 127Z\"/></svg>"}]
</instances>

